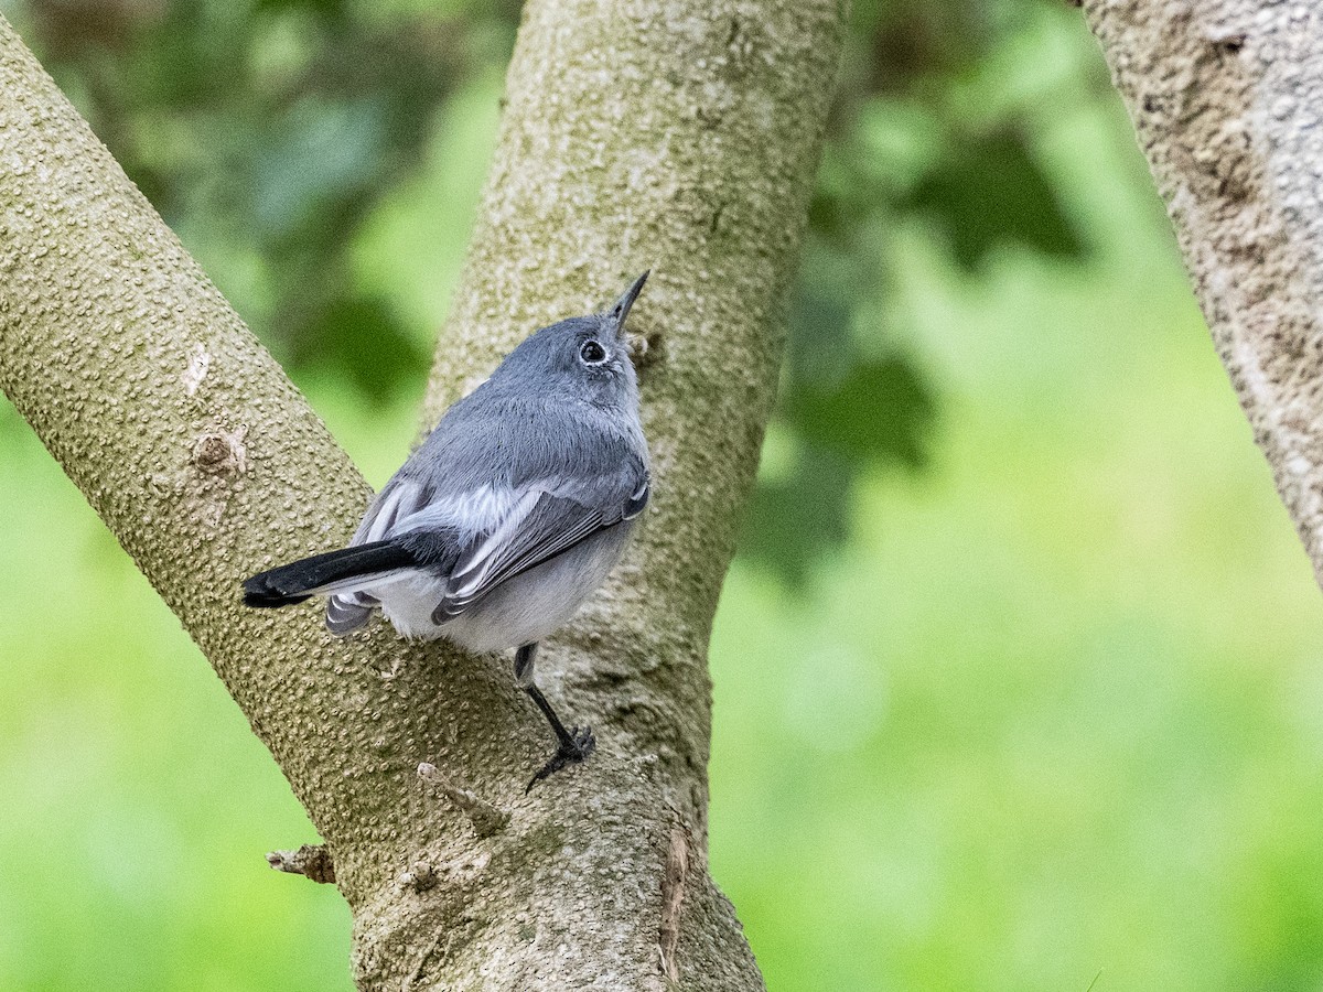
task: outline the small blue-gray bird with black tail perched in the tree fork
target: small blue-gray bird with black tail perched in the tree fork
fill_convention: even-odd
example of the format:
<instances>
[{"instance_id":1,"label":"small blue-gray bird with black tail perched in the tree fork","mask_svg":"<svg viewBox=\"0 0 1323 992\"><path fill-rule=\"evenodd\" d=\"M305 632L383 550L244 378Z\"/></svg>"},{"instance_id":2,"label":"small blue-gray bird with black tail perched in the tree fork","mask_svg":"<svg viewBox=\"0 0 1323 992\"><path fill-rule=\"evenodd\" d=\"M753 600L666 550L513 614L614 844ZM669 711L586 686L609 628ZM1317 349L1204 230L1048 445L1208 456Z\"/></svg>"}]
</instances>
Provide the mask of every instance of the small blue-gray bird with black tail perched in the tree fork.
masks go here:
<instances>
[{"instance_id":1,"label":"small blue-gray bird with black tail perched in the tree fork","mask_svg":"<svg viewBox=\"0 0 1323 992\"><path fill-rule=\"evenodd\" d=\"M529 336L451 406L368 507L348 548L263 571L249 606L328 595L348 634L381 610L405 638L517 648L515 679L556 731L536 782L583 761L533 681L537 641L573 616L648 501L648 448L623 335L640 275L611 310Z\"/></svg>"}]
</instances>

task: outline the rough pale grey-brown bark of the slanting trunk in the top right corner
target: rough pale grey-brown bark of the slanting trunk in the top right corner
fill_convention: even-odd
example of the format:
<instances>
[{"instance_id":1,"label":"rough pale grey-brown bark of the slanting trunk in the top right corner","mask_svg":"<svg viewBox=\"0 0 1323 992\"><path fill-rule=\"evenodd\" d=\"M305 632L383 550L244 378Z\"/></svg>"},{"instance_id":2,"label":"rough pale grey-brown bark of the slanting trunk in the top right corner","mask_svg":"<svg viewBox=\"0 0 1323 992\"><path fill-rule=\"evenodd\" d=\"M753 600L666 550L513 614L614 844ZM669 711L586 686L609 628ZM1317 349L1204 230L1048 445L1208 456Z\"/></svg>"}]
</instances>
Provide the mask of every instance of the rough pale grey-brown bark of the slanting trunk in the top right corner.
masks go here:
<instances>
[{"instance_id":1,"label":"rough pale grey-brown bark of the slanting trunk in the top right corner","mask_svg":"<svg viewBox=\"0 0 1323 992\"><path fill-rule=\"evenodd\" d=\"M1085 9L1323 582L1323 7L1086 0Z\"/></svg>"}]
</instances>

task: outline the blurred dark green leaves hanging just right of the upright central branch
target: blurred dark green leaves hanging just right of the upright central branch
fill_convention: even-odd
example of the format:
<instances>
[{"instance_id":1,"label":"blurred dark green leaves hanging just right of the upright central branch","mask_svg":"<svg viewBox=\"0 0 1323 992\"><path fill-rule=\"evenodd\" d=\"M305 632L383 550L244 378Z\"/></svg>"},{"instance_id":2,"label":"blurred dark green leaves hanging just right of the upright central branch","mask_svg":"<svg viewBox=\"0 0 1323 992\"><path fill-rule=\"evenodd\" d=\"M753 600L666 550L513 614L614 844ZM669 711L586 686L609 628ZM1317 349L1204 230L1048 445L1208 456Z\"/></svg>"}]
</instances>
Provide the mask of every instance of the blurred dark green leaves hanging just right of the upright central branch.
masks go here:
<instances>
[{"instance_id":1,"label":"blurred dark green leaves hanging just right of the upright central branch","mask_svg":"<svg viewBox=\"0 0 1323 992\"><path fill-rule=\"evenodd\" d=\"M970 99L971 78L1040 13L1032 0L856 7L790 315L778 419L792 466L763 484L741 544L792 585L848 540L860 472L929 460L939 390L886 313L902 234L923 225L970 275L1005 251L1088 257L1035 147L1031 101Z\"/></svg>"}]
</instances>

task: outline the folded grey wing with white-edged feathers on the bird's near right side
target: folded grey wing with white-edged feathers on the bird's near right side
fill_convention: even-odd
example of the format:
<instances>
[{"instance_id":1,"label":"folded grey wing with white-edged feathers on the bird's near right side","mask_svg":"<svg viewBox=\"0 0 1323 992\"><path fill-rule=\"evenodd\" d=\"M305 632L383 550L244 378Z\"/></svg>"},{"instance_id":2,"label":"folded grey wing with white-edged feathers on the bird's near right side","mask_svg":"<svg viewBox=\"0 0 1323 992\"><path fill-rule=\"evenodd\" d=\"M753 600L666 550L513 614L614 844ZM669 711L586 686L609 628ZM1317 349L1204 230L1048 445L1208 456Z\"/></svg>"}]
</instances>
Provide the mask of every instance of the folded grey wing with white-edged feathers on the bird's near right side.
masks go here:
<instances>
[{"instance_id":1,"label":"folded grey wing with white-edged feathers on the bird's near right side","mask_svg":"<svg viewBox=\"0 0 1323 992\"><path fill-rule=\"evenodd\" d=\"M433 620L458 616L505 579L602 528L632 520L647 501L648 474L638 459L607 476L545 479L523 487L499 524L460 553Z\"/></svg>"}]
</instances>

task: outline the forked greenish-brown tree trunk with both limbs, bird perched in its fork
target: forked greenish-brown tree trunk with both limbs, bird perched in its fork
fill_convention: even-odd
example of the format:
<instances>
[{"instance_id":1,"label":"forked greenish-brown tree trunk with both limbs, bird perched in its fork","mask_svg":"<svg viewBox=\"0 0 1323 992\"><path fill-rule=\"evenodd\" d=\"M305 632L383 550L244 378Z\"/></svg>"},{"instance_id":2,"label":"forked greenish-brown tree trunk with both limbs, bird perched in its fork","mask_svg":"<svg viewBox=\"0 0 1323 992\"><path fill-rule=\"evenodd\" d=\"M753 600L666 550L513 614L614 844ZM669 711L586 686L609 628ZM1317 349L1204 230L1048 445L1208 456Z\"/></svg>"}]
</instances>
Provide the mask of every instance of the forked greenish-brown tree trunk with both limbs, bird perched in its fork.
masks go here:
<instances>
[{"instance_id":1,"label":"forked greenish-brown tree trunk with both limbs, bird perched in its fork","mask_svg":"<svg viewBox=\"0 0 1323 992\"><path fill-rule=\"evenodd\" d=\"M239 607L243 575L344 541L368 488L0 22L0 388L288 776L364 988L762 984L706 872L705 651L841 21L837 0L525 12L429 419L534 327L654 270L631 315L654 503L544 655L599 751L531 796L549 739L508 657Z\"/></svg>"}]
</instances>

